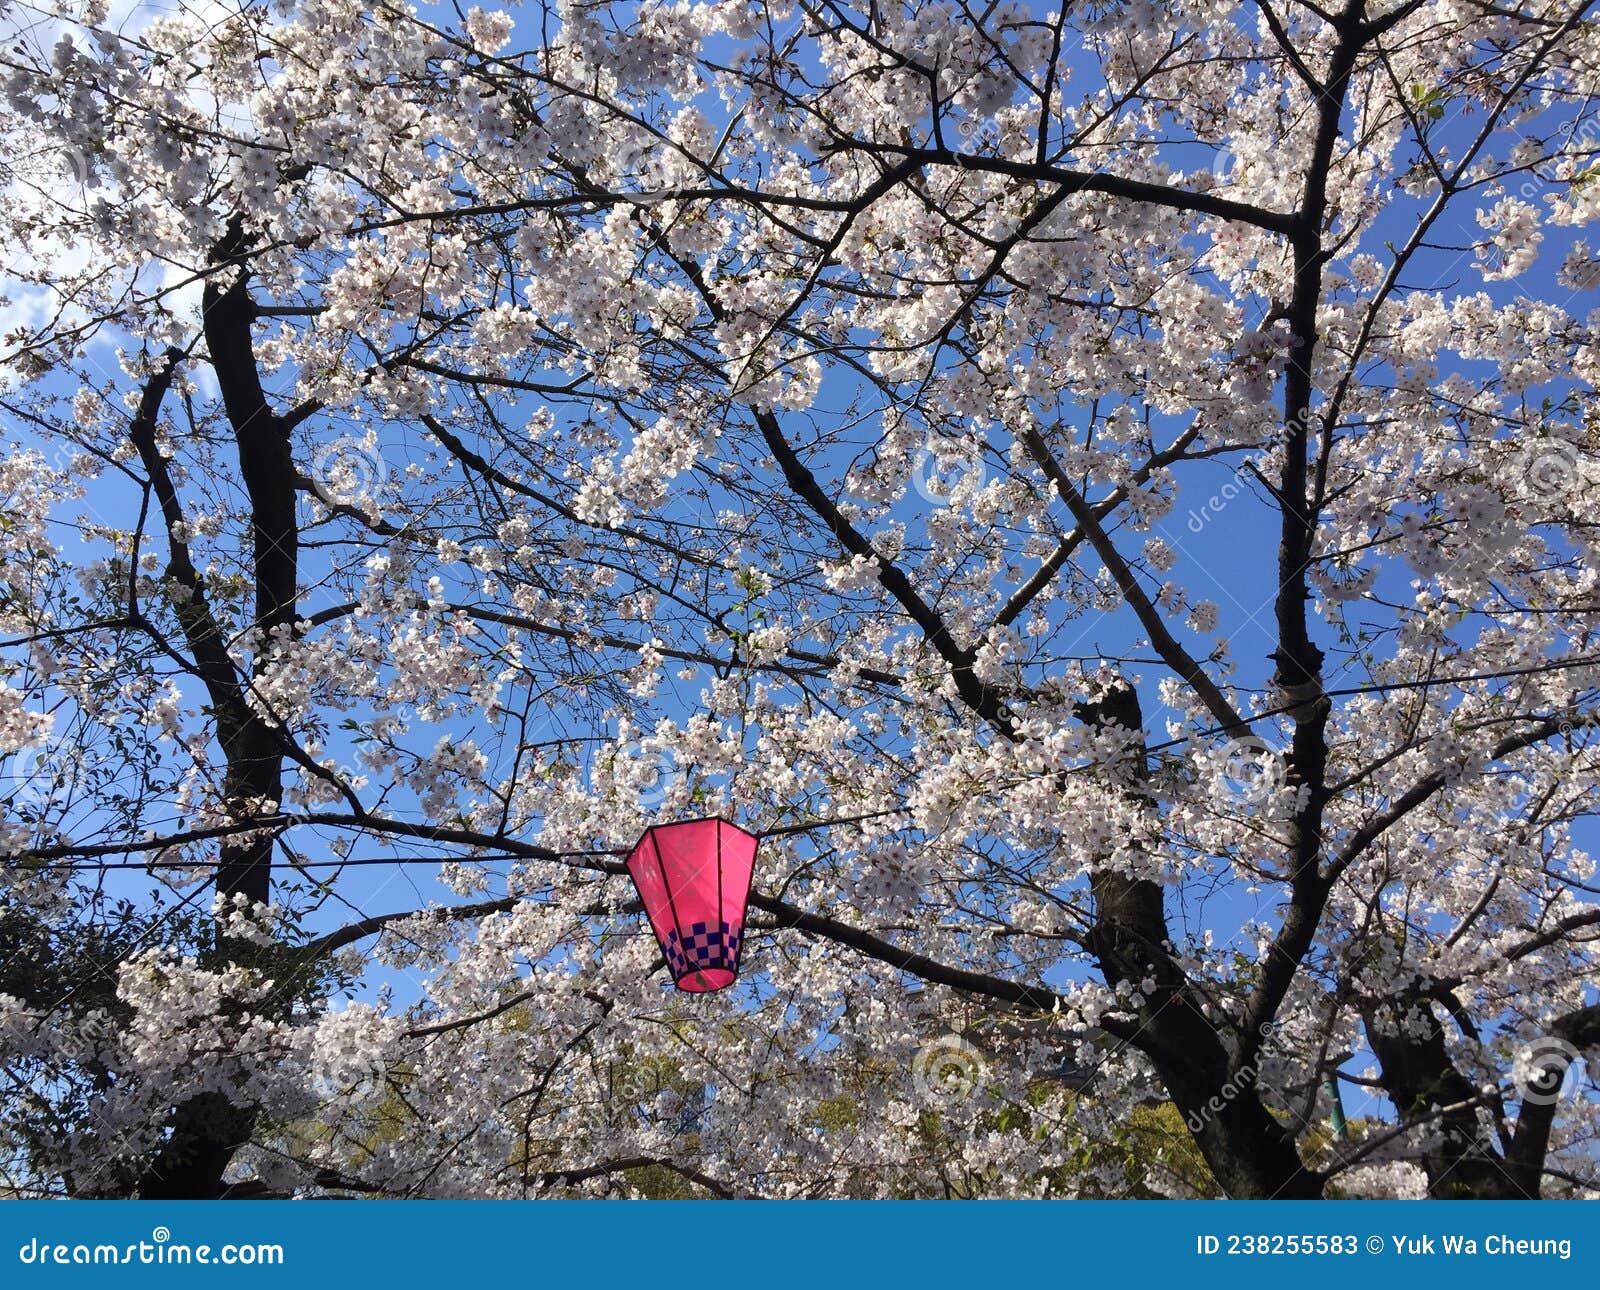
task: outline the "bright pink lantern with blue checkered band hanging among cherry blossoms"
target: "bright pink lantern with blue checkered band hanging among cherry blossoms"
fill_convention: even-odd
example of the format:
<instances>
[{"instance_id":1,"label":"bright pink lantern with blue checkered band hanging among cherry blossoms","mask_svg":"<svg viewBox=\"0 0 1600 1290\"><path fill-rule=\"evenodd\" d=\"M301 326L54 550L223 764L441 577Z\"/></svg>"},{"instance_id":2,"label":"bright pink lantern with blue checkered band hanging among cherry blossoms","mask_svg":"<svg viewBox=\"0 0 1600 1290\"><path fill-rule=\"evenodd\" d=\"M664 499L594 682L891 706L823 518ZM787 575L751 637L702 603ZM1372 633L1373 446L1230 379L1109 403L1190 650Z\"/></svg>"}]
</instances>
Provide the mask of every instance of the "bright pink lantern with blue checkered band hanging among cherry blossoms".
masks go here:
<instances>
[{"instance_id":1,"label":"bright pink lantern with blue checkered band hanging among cherry blossoms","mask_svg":"<svg viewBox=\"0 0 1600 1290\"><path fill-rule=\"evenodd\" d=\"M645 829L627 872L678 989L726 989L739 975L744 903L758 839L726 819Z\"/></svg>"}]
</instances>

